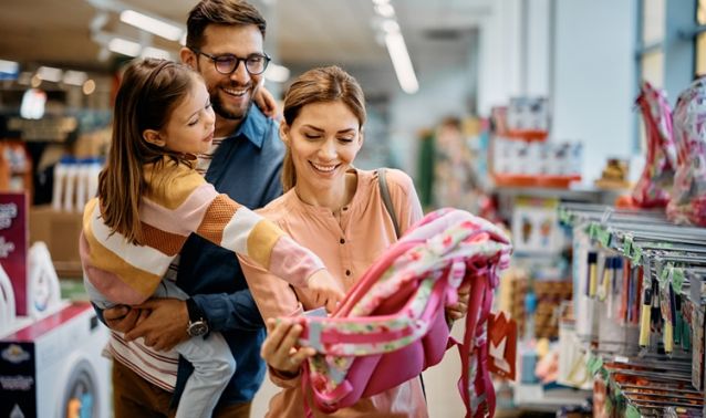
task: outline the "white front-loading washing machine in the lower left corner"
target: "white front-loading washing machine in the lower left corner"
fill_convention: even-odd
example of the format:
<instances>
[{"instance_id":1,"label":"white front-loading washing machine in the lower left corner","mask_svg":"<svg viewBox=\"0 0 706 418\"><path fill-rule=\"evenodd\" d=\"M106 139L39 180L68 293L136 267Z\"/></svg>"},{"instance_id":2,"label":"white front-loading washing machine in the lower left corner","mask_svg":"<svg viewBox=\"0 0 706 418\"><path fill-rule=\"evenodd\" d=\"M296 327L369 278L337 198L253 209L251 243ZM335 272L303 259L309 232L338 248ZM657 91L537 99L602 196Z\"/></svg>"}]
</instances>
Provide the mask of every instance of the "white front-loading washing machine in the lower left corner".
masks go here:
<instances>
[{"instance_id":1,"label":"white front-loading washing machine in the lower left corner","mask_svg":"<svg viewBox=\"0 0 706 418\"><path fill-rule=\"evenodd\" d=\"M0 339L0 417L108 418L107 336L82 302Z\"/></svg>"}]
</instances>

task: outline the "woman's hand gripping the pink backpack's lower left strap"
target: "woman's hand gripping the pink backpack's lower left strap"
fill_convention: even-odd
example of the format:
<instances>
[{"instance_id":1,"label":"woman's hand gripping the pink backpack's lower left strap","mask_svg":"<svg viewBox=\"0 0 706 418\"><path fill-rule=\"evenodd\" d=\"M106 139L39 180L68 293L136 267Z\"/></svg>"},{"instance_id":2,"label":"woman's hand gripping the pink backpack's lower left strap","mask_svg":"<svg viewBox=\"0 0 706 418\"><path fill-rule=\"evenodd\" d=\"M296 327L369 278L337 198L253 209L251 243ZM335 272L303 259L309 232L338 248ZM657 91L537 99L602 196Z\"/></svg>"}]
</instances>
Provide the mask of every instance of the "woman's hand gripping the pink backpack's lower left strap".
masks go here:
<instances>
[{"instance_id":1,"label":"woman's hand gripping the pink backpack's lower left strap","mask_svg":"<svg viewBox=\"0 0 706 418\"><path fill-rule=\"evenodd\" d=\"M302 363L316 354L311 347L299 347L297 341L302 326L295 320L267 320L267 338L260 355L274 370L297 375Z\"/></svg>"}]
</instances>

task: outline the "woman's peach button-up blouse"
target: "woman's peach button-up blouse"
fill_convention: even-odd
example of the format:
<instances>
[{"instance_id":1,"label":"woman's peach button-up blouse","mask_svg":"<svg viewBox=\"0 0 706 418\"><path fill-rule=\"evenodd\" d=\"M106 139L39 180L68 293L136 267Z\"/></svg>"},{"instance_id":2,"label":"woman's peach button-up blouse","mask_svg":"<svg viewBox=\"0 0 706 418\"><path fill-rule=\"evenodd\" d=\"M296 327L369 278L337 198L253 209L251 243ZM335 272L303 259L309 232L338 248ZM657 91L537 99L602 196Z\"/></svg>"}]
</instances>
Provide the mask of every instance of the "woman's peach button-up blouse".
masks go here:
<instances>
[{"instance_id":1,"label":"woman's peach button-up blouse","mask_svg":"<svg viewBox=\"0 0 706 418\"><path fill-rule=\"evenodd\" d=\"M392 218L380 194L377 173L359 169L353 169L353 173L357 175L357 188L351 202L342 208L340 220L328 208L304 203L293 189L258 211L319 255L346 291L396 241ZM422 219L422 206L409 176L388 169L386 178L399 229L404 232ZM264 320L297 315L302 310L319 307L312 303L308 290L293 289L281 279L243 260L241 265ZM300 378L284 379L272 373L270 375L282 390L271 399L267 416L302 417L304 409ZM314 417L326 416L315 409L311 397L309 399ZM427 417L426 409L419 379L415 378L385 393L363 398L354 406L329 416Z\"/></svg>"}]
</instances>

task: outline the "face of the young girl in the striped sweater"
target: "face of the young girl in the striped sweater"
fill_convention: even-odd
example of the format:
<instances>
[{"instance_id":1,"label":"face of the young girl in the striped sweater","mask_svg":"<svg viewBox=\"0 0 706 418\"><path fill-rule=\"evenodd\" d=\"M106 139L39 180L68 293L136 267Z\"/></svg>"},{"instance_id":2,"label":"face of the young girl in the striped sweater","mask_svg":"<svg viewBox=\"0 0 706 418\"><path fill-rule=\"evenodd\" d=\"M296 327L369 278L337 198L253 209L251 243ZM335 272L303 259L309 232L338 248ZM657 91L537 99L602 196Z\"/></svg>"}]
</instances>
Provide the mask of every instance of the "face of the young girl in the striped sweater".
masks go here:
<instances>
[{"instance_id":1,"label":"face of the young girl in the striped sweater","mask_svg":"<svg viewBox=\"0 0 706 418\"><path fill-rule=\"evenodd\" d=\"M204 154L210 150L215 121L208 91L200 80L195 79L190 92L174 108L158 135L166 149Z\"/></svg>"}]
</instances>

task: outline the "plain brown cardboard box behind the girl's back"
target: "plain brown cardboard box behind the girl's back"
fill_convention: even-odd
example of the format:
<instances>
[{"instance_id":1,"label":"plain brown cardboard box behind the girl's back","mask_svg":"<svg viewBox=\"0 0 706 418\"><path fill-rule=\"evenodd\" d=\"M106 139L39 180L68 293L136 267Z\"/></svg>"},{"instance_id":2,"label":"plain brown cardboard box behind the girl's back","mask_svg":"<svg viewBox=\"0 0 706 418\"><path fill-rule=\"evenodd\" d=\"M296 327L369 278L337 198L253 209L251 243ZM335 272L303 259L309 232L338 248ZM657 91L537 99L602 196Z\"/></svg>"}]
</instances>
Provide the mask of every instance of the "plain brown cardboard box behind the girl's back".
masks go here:
<instances>
[{"instance_id":1,"label":"plain brown cardboard box behind the girl's back","mask_svg":"<svg viewBox=\"0 0 706 418\"><path fill-rule=\"evenodd\" d=\"M50 206L30 209L30 243L44 241L60 278L83 276L79 257L81 212L65 212Z\"/></svg>"}]
</instances>

